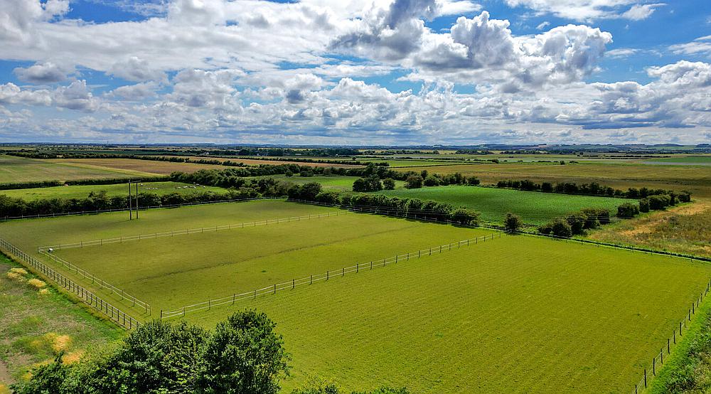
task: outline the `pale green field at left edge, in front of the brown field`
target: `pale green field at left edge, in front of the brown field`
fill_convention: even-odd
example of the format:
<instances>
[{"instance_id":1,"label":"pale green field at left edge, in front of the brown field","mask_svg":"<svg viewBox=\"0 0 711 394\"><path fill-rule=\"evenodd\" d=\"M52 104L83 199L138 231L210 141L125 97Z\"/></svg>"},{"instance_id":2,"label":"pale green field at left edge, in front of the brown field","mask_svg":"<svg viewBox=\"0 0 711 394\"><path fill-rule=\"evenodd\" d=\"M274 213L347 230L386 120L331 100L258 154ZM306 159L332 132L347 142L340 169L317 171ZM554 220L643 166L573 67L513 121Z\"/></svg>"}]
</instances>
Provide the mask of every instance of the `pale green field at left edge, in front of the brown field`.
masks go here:
<instances>
[{"instance_id":1,"label":"pale green field at left edge, in front of the brown field","mask_svg":"<svg viewBox=\"0 0 711 394\"><path fill-rule=\"evenodd\" d=\"M26 159L0 155L0 183L33 181L72 181L75 179L110 179L146 176L141 169L105 169L53 163L47 160Z\"/></svg>"}]
</instances>

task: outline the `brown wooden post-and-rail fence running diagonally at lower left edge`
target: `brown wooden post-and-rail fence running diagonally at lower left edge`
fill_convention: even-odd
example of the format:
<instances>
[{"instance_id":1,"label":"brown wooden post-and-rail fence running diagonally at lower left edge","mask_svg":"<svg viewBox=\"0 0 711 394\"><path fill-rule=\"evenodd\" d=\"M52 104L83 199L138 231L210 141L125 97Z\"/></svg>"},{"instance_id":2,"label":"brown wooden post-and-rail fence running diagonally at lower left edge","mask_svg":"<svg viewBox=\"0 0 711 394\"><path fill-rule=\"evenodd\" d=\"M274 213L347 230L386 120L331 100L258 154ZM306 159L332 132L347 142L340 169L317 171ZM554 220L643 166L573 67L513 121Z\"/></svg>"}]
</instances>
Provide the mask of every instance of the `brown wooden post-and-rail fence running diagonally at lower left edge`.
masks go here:
<instances>
[{"instance_id":1,"label":"brown wooden post-and-rail fence running diagonally at lower left edge","mask_svg":"<svg viewBox=\"0 0 711 394\"><path fill-rule=\"evenodd\" d=\"M59 286L63 287L64 289L67 289L69 292L72 292L83 302L89 304L90 307L107 316L107 318L109 318L118 326L121 326L124 329L137 329L141 325L139 321L134 319L132 316L129 316L121 309L114 307L112 304L109 304L108 302L104 301L104 299L102 299L101 297L98 297L96 294L90 292L90 290L85 289L85 287L82 287L80 284L77 284L72 279L61 275L59 272L56 272L55 270L45 265L43 262L40 262L31 255L28 255L22 250L19 250L17 247L2 238L0 238L0 248L2 248L10 255L15 256L18 260L21 260L26 265L29 265L33 268L33 270L37 270L44 277L51 279Z\"/></svg>"}]
</instances>

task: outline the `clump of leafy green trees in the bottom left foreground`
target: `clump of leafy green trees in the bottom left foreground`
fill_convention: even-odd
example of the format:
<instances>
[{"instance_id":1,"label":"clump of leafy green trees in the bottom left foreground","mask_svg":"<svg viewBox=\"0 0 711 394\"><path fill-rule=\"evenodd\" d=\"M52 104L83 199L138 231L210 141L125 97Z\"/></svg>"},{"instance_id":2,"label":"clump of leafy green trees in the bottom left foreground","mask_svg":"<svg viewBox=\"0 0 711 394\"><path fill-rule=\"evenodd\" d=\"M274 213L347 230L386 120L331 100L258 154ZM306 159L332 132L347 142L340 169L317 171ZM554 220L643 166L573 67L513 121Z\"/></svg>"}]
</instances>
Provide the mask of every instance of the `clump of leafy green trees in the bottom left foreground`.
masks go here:
<instances>
[{"instance_id":1,"label":"clump of leafy green trees in the bottom left foreground","mask_svg":"<svg viewBox=\"0 0 711 394\"><path fill-rule=\"evenodd\" d=\"M33 369L31 378L11 388L16 394L234 393L275 394L289 376L291 357L276 324L254 310L237 312L208 331L181 321L151 321L114 348L76 363ZM328 390L324 390L324 389ZM334 391L335 390L335 391ZM306 385L294 394L341 393L336 385ZM362 394L407 394L387 388Z\"/></svg>"}]
</instances>

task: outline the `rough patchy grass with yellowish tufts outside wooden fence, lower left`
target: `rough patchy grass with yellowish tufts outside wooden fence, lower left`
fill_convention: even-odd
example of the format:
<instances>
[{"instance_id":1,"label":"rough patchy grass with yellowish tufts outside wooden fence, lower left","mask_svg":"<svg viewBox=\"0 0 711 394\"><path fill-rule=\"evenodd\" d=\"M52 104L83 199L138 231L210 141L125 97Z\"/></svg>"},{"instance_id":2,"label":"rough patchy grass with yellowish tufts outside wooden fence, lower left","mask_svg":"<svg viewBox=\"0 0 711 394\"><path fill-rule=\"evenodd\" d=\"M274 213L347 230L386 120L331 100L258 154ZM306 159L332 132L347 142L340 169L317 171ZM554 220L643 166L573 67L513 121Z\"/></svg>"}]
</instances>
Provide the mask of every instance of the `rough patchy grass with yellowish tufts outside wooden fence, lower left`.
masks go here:
<instances>
[{"instance_id":1,"label":"rough patchy grass with yellowish tufts outside wooden fence, lower left","mask_svg":"<svg viewBox=\"0 0 711 394\"><path fill-rule=\"evenodd\" d=\"M74 362L124 334L55 289L46 287L41 294L28 284L36 278L31 274L10 279L7 272L16 267L0 255L0 393L3 385L26 378L33 366L52 361L58 351L65 351L65 362Z\"/></svg>"}]
</instances>

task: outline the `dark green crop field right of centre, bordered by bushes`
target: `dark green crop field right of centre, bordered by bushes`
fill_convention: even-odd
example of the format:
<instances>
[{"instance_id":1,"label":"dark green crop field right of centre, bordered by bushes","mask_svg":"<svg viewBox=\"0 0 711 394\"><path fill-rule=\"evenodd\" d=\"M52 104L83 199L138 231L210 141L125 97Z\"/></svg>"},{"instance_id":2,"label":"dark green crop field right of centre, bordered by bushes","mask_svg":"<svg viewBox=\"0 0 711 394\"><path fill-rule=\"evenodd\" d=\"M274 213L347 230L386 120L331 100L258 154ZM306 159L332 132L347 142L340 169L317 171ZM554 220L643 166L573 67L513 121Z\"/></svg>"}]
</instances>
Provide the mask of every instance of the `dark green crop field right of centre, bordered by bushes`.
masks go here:
<instances>
[{"instance_id":1,"label":"dark green crop field right of centre, bordered by bushes","mask_svg":"<svg viewBox=\"0 0 711 394\"><path fill-rule=\"evenodd\" d=\"M607 208L617 212L625 198L570 196L567 194L518 191L504 188L476 186L437 186L398 189L378 193L402 198L419 198L450 203L453 206L473 208L488 222L501 223L506 213L519 215L525 223L542 224L553 218L580 211L582 208Z\"/></svg>"}]
</instances>

